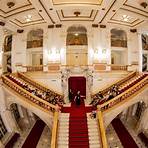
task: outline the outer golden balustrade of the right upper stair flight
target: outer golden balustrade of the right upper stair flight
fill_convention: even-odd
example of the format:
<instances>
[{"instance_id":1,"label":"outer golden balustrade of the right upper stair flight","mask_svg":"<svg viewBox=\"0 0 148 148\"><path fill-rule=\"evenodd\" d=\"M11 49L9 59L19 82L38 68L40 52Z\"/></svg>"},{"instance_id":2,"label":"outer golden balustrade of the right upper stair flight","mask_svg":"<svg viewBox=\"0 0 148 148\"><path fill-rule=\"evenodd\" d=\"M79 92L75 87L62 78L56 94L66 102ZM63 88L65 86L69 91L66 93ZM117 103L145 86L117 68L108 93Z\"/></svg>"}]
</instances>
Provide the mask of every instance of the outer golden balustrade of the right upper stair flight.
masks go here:
<instances>
[{"instance_id":1,"label":"outer golden balustrade of the right upper stair flight","mask_svg":"<svg viewBox=\"0 0 148 148\"><path fill-rule=\"evenodd\" d=\"M132 86L131 88L127 89L125 92L119 94L115 98L98 105L101 111L106 111L109 108L112 108L114 105L121 103L122 100L125 100L126 98L132 98L134 94L138 94L138 91L142 89L145 85L148 84L148 76L146 76L144 79L142 79L140 82Z\"/></svg>"}]
</instances>

